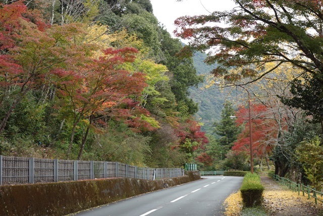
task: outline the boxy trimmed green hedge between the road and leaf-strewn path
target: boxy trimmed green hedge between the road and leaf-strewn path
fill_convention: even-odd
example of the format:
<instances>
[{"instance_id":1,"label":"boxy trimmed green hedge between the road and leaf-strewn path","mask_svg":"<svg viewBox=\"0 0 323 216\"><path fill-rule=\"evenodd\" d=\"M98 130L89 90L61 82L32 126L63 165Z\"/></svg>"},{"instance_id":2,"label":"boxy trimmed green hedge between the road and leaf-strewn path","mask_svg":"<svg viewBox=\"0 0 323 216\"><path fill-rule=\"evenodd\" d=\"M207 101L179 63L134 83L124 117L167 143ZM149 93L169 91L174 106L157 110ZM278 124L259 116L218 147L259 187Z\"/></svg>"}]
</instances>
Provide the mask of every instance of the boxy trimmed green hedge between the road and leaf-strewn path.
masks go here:
<instances>
[{"instance_id":1,"label":"boxy trimmed green hedge between the road and leaf-strewn path","mask_svg":"<svg viewBox=\"0 0 323 216\"><path fill-rule=\"evenodd\" d=\"M264 187L261 185L260 177L257 174L248 172L243 179L240 191L245 207L261 205L262 192Z\"/></svg>"}]
</instances>

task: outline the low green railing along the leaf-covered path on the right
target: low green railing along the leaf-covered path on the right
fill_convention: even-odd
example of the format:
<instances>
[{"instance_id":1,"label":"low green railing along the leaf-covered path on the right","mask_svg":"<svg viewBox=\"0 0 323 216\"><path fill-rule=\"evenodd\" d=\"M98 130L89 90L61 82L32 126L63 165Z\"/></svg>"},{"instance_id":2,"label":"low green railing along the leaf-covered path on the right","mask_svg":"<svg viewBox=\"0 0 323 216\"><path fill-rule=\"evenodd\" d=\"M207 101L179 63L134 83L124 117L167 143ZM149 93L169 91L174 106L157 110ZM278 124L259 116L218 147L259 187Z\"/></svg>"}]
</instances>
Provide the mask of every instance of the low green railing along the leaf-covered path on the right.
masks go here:
<instances>
[{"instance_id":1,"label":"low green railing along the leaf-covered path on the right","mask_svg":"<svg viewBox=\"0 0 323 216\"><path fill-rule=\"evenodd\" d=\"M323 193L316 191L315 188L310 188L308 185L305 186L303 184L297 184L295 182L290 181L289 179L280 177L278 175L270 175L270 176L276 181L279 181L281 184L289 187L291 190L298 192L298 195L300 195L300 193L302 192L303 196L307 194L308 199L313 197L315 199L315 204L317 204L317 200L320 202L323 202L323 199L317 197L318 194L323 196Z\"/></svg>"}]
</instances>

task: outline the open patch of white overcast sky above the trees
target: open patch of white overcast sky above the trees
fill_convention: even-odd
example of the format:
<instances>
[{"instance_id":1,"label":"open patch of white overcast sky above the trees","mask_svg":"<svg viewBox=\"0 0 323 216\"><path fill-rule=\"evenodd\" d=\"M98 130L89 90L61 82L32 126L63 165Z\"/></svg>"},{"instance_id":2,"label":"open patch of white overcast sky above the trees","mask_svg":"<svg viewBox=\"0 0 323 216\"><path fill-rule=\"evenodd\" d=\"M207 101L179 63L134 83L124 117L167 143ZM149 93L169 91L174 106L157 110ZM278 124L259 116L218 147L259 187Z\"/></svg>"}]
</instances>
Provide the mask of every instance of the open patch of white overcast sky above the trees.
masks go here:
<instances>
[{"instance_id":1,"label":"open patch of white overcast sky above the trees","mask_svg":"<svg viewBox=\"0 0 323 216\"><path fill-rule=\"evenodd\" d=\"M150 0L153 14L172 36L176 18L189 15L209 14L213 11L230 10L234 7L232 0Z\"/></svg>"}]
</instances>

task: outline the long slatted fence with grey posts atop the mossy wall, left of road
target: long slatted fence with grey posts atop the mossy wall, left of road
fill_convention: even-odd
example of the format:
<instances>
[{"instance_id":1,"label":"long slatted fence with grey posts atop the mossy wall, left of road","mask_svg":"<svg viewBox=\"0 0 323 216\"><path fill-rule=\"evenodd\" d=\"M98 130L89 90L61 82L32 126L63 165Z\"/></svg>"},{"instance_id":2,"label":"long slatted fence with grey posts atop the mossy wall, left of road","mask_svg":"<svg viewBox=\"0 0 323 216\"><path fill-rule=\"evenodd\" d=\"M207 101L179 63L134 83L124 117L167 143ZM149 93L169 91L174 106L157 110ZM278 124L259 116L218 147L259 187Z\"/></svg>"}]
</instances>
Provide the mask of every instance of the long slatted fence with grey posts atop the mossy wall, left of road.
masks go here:
<instances>
[{"instance_id":1,"label":"long slatted fence with grey posts atop the mossy wall, left of road","mask_svg":"<svg viewBox=\"0 0 323 216\"><path fill-rule=\"evenodd\" d=\"M182 168L142 168L108 161L80 161L0 155L0 185L102 178L156 180L180 177Z\"/></svg>"}]
</instances>

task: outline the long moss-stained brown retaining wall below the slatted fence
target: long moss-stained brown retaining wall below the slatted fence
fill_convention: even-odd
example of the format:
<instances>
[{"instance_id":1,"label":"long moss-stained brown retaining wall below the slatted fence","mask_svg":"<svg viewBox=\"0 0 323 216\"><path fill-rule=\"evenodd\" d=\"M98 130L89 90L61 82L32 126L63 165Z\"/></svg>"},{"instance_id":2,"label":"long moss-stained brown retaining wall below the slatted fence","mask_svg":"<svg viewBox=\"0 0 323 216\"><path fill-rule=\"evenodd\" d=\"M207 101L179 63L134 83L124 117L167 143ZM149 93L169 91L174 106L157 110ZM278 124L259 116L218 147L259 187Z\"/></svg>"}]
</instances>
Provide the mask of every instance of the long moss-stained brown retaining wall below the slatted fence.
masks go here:
<instances>
[{"instance_id":1,"label":"long moss-stained brown retaining wall below the slatted fence","mask_svg":"<svg viewBox=\"0 0 323 216\"><path fill-rule=\"evenodd\" d=\"M0 215L66 215L128 197L199 180L187 176L148 181L129 178L0 186Z\"/></svg>"}]
</instances>

